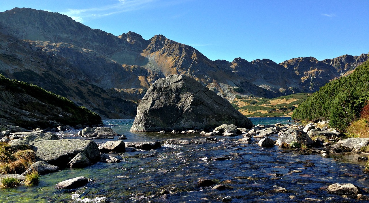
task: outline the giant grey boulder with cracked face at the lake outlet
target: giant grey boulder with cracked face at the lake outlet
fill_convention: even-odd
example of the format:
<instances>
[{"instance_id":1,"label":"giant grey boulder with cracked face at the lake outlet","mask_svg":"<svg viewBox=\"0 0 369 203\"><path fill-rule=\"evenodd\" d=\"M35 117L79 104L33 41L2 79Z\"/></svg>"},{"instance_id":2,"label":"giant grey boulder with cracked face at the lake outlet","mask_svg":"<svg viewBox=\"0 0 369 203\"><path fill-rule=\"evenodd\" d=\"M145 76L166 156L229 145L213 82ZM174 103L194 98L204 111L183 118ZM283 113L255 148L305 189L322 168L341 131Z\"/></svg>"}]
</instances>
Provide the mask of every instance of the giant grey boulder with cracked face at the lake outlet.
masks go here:
<instances>
[{"instance_id":1,"label":"giant grey boulder with cracked face at the lake outlet","mask_svg":"<svg viewBox=\"0 0 369 203\"><path fill-rule=\"evenodd\" d=\"M214 128L221 124L252 127L232 105L195 79L169 75L158 79L137 107L131 131L172 131Z\"/></svg>"}]
</instances>

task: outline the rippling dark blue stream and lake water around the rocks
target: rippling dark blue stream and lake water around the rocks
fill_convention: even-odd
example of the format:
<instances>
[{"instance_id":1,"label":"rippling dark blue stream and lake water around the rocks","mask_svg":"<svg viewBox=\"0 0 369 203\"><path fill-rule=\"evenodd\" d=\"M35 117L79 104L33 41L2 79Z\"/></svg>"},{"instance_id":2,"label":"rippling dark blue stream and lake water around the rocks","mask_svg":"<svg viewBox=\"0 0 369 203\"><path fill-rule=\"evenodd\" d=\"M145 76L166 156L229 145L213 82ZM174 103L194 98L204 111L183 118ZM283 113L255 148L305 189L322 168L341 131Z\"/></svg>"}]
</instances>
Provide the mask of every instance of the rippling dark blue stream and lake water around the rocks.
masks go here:
<instances>
[{"instance_id":1,"label":"rippling dark blue stream and lake water around the rocks","mask_svg":"<svg viewBox=\"0 0 369 203\"><path fill-rule=\"evenodd\" d=\"M288 119L251 118L254 124L289 124ZM127 142L200 137L132 133L132 122L104 120L104 124L124 134ZM277 146L239 145L235 140L242 136L215 137L220 140L215 144L163 145L151 151L114 154L123 158L120 163L95 163L83 169L66 168L42 175L38 185L0 189L0 202L222 202L226 196L232 197L231 202L362 202L330 195L325 188L334 183L352 183L363 193L369 188L368 175L362 172L365 162L357 160L363 154L331 154L331 158L323 158L319 154L294 154ZM270 137L277 139L276 135ZM227 156L229 160L211 160L216 156ZM92 181L79 189L55 189L58 182L79 176ZM198 186L199 178L227 188ZM162 195L163 191L169 195Z\"/></svg>"}]
</instances>

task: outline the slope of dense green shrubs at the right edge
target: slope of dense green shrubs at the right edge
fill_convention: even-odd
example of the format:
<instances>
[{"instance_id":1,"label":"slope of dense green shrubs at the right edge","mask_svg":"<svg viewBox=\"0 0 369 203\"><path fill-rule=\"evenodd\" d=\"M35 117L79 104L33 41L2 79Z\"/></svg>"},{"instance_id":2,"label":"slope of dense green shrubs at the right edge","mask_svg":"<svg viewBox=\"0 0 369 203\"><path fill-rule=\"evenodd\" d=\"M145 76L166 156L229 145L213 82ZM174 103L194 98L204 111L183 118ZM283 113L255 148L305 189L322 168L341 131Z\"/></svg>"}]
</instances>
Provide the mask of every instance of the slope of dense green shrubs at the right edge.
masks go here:
<instances>
[{"instance_id":1,"label":"slope of dense green shrubs at the right edge","mask_svg":"<svg viewBox=\"0 0 369 203\"><path fill-rule=\"evenodd\" d=\"M293 112L295 120L330 120L330 126L345 131L359 118L369 100L369 60L352 74L331 81L311 95Z\"/></svg>"}]
</instances>

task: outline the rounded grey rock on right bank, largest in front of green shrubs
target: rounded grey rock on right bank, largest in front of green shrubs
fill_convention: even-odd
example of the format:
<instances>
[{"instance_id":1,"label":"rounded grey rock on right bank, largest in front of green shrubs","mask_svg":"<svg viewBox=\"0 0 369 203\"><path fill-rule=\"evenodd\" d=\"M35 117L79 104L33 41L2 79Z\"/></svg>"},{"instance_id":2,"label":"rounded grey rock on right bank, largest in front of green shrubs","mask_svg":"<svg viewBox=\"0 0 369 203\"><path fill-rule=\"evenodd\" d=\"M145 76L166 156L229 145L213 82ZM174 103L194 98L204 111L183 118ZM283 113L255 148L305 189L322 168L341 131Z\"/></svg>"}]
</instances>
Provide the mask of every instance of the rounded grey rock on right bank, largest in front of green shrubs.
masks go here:
<instances>
[{"instance_id":1,"label":"rounded grey rock on right bank, largest in front of green shrubs","mask_svg":"<svg viewBox=\"0 0 369 203\"><path fill-rule=\"evenodd\" d=\"M291 142L298 142L300 145L312 145L314 143L314 141L307 135L306 132L296 129L289 129L280 135L277 140L279 147L282 146L283 142L287 144L290 144Z\"/></svg>"}]
</instances>

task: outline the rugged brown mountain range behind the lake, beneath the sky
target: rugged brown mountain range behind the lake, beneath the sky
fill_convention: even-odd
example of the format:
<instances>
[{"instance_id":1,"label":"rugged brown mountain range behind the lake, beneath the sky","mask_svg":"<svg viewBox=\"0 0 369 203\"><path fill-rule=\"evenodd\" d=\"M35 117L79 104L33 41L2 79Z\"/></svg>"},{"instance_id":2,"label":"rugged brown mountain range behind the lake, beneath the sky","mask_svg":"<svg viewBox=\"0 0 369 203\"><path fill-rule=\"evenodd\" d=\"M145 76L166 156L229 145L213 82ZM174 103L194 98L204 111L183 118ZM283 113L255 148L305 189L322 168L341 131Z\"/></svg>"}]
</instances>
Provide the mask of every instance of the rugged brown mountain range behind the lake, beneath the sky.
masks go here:
<instances>
[{"instance_id":1,"label":"rugged brown mountain range behind the lake, beneath the sky","mask_svg":"<svg viewBox=\"0 0 369 203\"><path fill-rule=\"evenodd\" d=\"M102 118L134 118L150 85L171 74L190 76L228 100L236 95L273 98L315 92L368 58L213 61L163 35L149 40L131 31L114 36L31 8L0 13L0 73L65 96Z\"/></svg>"}]
</instances>

